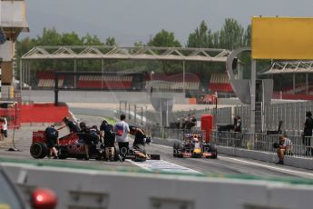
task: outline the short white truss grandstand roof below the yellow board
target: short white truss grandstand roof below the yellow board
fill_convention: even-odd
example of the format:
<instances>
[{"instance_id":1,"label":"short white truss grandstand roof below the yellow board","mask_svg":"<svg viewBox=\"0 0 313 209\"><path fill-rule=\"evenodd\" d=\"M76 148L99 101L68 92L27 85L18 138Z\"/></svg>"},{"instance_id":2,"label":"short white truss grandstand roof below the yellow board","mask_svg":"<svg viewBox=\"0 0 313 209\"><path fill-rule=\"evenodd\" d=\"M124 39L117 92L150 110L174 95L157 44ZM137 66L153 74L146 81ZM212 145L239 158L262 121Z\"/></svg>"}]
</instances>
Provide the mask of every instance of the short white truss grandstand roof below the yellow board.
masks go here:
<instances>
[{"instance_id":1,"label":"short white truss grandstand roof below the yellow board","mask_svg":"<svg viewBox=\"0 0 313 209\"><path fill-rule=\"evenodd\" d=\"M262 75L313 73L313 61L274 62Z\"/></svg>"}]
</instances>

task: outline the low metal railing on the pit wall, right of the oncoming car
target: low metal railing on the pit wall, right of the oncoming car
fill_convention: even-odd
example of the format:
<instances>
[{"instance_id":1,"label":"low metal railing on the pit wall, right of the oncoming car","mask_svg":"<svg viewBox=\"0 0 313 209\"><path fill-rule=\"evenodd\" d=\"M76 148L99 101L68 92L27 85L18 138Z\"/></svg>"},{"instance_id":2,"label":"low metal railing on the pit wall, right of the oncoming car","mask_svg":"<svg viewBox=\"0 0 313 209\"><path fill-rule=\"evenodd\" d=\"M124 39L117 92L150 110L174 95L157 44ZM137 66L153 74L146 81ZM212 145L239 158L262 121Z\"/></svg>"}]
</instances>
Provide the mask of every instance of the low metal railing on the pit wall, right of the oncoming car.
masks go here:
<instances>
[{"instance_id":1,"label":"low metal railing on the pit wall, right of the oncoming car","mask_svg":"<svg viewBox=\"0 0 313 209\"><path fill-rule=\"evenodd\" d=\"M311 158L313 156L312 136L303 137L298 135L288 136L291 141L292 156ZM274 143L279 143L279 135L267 135L261 133L236 133L219 132L213 130L210 134L212 143L220 146L237 147L240 149L262 151L269 154L276 154L277 149L273 148Z\"/></svg>"}]
</instances>

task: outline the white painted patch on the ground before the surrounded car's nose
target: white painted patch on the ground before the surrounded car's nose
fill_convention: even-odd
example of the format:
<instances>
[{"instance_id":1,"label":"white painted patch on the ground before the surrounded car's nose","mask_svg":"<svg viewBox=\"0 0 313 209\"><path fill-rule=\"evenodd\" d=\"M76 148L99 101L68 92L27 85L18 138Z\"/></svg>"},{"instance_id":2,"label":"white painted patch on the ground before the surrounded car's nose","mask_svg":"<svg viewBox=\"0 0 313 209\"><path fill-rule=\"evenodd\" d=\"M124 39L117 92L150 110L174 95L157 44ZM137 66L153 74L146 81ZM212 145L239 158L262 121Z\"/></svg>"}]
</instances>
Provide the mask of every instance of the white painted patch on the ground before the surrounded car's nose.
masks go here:
<instances>
[{"instance_id":1,"label":"white painted patch on the ground before the surrounded car's nose","mask_svg":"<svg viewBox=\"0 0 313 209\"><path fill-rule=\"evenodd\" d=\"M147 160L145 162L133 162L147 171L163 171L163 172L174 172L174 173L187 173L187 174L201 174L199 171L192 170L187 167L183 167L179 164L172 164L164 160Z\"/></svg>"}]
</instances>

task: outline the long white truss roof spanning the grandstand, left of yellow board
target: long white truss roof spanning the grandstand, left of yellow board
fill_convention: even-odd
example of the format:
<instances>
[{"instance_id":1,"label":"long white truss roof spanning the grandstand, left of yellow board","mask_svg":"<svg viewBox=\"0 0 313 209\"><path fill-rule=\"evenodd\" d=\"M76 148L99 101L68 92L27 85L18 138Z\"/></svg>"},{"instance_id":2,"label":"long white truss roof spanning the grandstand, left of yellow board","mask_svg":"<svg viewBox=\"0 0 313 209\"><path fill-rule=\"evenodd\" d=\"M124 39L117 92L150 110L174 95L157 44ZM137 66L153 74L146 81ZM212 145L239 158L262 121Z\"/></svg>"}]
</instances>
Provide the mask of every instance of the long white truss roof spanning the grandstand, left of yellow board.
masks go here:
<instances>
[{"instance_id":1,"label":"long white truss roof spanning the grandstand, left of yellow board","mask_svg":"<svg viewBox=\"0 0 313 209\"><path fill-rule=\"evenodd\" d=\"M132 59L198 62L226 62L230 51L210 48L122 47L104 45L36 46L22 56L23 60L45 59Z\"/></svg>"}]
</instances>

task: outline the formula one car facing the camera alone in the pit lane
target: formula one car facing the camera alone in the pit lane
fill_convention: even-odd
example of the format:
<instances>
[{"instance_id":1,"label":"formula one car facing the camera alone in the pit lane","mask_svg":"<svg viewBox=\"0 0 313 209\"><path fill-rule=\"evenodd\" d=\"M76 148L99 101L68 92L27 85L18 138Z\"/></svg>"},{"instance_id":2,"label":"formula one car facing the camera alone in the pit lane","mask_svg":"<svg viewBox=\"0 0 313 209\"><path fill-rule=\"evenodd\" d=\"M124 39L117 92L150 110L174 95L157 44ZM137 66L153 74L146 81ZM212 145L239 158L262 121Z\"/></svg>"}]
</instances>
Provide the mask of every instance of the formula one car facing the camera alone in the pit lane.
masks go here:
<instances>
[{"instance_id":1,"label":"formula one car facing the camera alone in the pit lane","mask_svg":"<svg viewBox=\"0 0 313 209\"><path fill-rule=\"evenodd\" d=\"M183 134L183 142L173 144L174 157L217 158L216 144L203 142L201 132Z\"/></svg>"}]
</instances>

